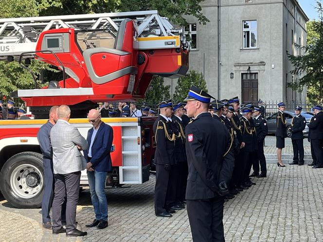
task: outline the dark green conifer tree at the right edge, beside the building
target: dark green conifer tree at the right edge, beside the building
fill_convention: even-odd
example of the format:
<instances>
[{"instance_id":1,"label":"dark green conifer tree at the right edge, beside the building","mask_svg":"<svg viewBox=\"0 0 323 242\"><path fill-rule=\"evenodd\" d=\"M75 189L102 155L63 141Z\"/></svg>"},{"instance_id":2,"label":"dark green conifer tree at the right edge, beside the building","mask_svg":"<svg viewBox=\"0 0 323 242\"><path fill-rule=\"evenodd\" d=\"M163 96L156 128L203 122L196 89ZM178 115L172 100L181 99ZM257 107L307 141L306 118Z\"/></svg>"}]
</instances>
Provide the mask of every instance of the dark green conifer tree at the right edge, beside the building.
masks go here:
<instances>
[{"instance_id":1,"label":"dark green conifer tree at the right edge, beside the building","mask_svg":"<svg viewBox=\"0 0 323 242\"><path fill-rule=\"evenodd\" d=\"M291 74L304 75L299 82L287 86L298 92L307 87L307 99L310 104L323 102L323 6L317 1L319 20L307 23L307 46L296 45L305 50L305 55L288 55L294 69Z\"/></svg>"}]
</instances>

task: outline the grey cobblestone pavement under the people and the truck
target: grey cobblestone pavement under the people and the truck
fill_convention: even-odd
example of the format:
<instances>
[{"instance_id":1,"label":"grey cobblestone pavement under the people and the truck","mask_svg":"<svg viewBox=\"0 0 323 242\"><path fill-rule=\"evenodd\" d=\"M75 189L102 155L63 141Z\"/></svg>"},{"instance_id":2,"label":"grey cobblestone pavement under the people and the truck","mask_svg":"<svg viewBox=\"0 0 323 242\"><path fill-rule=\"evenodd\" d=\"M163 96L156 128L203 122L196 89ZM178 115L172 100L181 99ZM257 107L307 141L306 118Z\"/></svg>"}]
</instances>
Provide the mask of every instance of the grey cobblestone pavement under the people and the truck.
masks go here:
<instances>
[{"instance_id":1,"label":"grey cobblestone pavement under the people and the truck","mask_svg":"<svg viewBox=\"0 0 323 242\"><path fill-rule=\"evenodd\" d=\"M267 178L254 178L257 185L225 203L226 241L323 241L322 177L323 169L269 164ZM0 241L191 241L186 210L155 216L154 183L151 176L142 185L108 189L109 226L103 230L85 227L94 217L89 191L83 191L77 221L88 231L84 238L52 235L41 227L40 209L12 208L2 198Z\"/></svg>"}]
</instances>

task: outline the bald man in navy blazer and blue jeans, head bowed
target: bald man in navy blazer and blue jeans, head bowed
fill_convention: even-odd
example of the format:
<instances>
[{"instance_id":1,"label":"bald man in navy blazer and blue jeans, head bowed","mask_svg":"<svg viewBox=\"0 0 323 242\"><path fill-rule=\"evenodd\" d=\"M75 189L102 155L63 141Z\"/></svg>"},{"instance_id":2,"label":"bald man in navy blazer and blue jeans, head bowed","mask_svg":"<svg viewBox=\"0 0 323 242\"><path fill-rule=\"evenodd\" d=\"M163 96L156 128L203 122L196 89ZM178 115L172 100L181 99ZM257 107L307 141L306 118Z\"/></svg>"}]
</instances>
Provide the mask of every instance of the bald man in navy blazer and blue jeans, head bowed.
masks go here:
<instances>
[{"instance_id":1,"label":"bald man in navy blazer and blue jeans, head bowed","mask_svg":"<svg viewBox=\"0 0 323 242\"><path fill-rule=\"evenodd\" d=\"M101 121L101 115L96 109L90 110L88 119L93 128L88 132L87 141L90 147L89 150L84 151L84 157L87 160L87 173L95 219L86 227L96 226L102 229L108 227L105 183L107 173L112 171L110 151L113 129L110 125Z\"/></svg>"}]
</instances>

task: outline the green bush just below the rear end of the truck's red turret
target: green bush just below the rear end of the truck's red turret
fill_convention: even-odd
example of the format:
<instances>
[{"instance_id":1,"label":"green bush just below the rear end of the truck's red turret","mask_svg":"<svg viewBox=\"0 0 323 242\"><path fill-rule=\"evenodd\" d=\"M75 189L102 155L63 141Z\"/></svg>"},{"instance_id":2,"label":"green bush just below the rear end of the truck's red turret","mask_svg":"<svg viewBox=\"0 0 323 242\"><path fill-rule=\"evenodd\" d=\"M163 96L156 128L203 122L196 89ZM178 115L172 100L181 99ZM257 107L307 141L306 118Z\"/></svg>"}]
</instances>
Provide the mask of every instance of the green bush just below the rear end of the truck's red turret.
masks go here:
<instances>
[{"instance_id":1,"label":"green bush just below the rear end of the truck's red turret","mask_svg":"<svg viewBox=\"0 0 323 242\"><path fill-rule=\"evenodd\" d=\"M138 102L139 105L157 105L164 100L170 99L170 85L164 86L164 78L154 76L146 97Z\"/></svg>"}]
</instances>

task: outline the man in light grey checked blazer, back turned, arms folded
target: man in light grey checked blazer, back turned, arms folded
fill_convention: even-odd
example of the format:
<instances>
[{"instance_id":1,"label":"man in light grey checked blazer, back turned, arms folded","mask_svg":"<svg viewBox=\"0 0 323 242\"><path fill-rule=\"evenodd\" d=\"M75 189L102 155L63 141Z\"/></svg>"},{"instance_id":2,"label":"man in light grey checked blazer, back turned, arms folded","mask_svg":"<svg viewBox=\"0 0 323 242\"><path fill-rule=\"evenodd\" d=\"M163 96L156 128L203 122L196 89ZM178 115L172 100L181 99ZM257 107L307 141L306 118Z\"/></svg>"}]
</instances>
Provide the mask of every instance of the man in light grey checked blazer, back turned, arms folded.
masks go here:
<instances>
[{"instance_id":1,"label":"man in light grey checked blazer, back turned, arms folded","mask_svg":"<svg viewBox=\"0 0 323 242\"><path fill-rule=\"evenodd\" d=\"M67 237L87 235L87 232L76 229L75 219L81 171L86 167L86 160L80 151L87 150L89 146L77 128L68 122L70 116L70 108L67 105L61 105L57 110L58 120L51 130L55 178L53 234L66 232ZM61 209L64 199L67 200L66 230L61 223Z\"/></svg>"}]
</instances>

